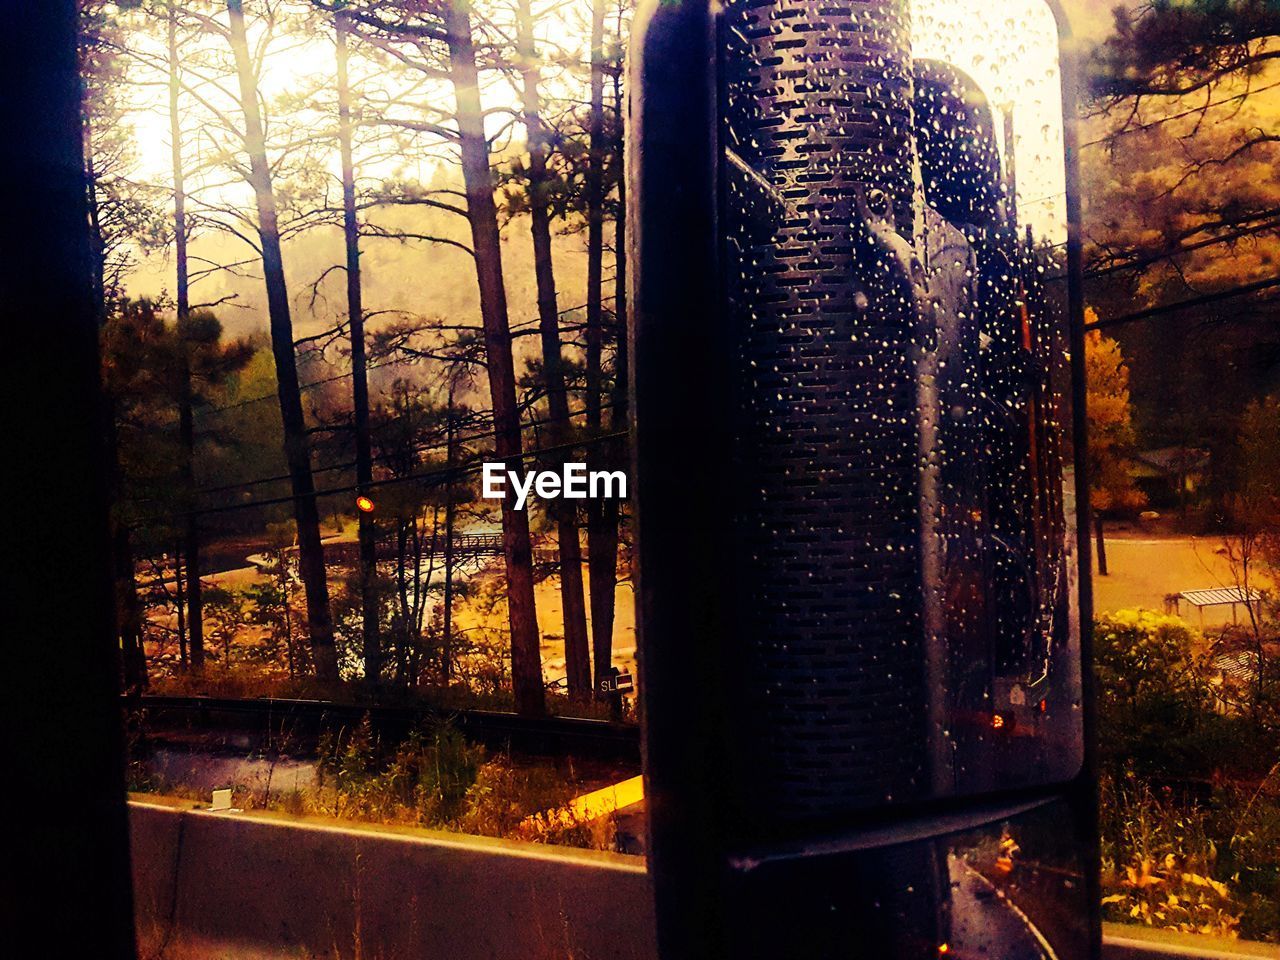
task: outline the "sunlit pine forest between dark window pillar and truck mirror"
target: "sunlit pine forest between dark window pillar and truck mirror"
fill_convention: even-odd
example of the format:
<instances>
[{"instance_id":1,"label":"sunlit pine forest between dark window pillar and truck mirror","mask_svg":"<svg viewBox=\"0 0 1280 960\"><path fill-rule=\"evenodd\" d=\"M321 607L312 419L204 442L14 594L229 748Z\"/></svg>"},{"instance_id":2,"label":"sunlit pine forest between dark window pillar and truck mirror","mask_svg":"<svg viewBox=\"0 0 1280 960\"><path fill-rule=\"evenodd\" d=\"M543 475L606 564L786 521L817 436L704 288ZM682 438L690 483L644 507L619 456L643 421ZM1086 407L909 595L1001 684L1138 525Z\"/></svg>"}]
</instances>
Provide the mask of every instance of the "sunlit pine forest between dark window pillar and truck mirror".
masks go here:
<instances>
[{"instance_id":1,"label":"sunlit pine forest between dark window pillar and truck mirror","mask_svg":"<svg viewBox=\"0 0 1280 960\"><path fill-rule=\"evenodd\" d=\"M626 458L628 17L82 5L129 689L593 699L623 507L477 472Z\"/></svg>"}]
</instances>

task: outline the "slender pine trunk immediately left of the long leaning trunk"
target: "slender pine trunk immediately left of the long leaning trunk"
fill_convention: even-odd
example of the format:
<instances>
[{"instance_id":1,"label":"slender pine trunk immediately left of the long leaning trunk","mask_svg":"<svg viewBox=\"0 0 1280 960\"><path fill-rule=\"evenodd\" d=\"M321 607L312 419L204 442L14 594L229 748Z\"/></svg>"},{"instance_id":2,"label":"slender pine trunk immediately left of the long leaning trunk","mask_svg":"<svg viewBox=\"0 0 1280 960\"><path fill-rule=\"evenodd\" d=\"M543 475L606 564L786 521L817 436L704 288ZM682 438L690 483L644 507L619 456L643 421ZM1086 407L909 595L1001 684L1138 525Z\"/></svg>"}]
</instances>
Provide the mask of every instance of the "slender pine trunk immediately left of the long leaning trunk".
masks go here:
<instances>
[{"instance_id":1,"label":"slender pine trunk immediately left of the long leaning trunk","mask_svg":"<svg viewBox=\"0 0 1280 960\"><path fill-rule=\"evenodd\" d=\"M178 59L178 17L169 9L169 140L173 155L173 232L174 261L177 265L178 342L178 438L182 444L182 485L186 509L182 520L182 544L186 554L186 594L191 668L196 673L205 668L205 608L200 582L200 517L196 513L196 419L191 387L191 319L189 279L187 273L187 180L182 165L182 114L179 95L182 61ZM180 582L179 582L180 586ZM179 600L180 603L180 600Z\"/></svg>"}]
</instances>

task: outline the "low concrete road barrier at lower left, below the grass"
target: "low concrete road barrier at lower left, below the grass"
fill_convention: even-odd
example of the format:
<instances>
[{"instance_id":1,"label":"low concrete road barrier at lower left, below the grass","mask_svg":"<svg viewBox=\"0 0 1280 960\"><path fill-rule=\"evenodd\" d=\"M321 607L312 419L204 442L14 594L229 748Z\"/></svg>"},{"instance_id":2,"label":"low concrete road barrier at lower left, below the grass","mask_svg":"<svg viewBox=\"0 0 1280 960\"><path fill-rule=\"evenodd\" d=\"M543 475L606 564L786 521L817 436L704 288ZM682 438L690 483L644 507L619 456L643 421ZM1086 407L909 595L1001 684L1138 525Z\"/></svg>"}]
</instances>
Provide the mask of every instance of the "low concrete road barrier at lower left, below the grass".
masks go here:
<instances>
[{"instance_id":1,"label":"low concrete road barrier at lower left, below the grass","mask_svg":"<svg viewBox=\"0 0 1280 960\"><path fill-rule=\"evenodd\" d=\"M652 960L639 858L131 803L143 956Z\"/></svg>"}]
</instances>

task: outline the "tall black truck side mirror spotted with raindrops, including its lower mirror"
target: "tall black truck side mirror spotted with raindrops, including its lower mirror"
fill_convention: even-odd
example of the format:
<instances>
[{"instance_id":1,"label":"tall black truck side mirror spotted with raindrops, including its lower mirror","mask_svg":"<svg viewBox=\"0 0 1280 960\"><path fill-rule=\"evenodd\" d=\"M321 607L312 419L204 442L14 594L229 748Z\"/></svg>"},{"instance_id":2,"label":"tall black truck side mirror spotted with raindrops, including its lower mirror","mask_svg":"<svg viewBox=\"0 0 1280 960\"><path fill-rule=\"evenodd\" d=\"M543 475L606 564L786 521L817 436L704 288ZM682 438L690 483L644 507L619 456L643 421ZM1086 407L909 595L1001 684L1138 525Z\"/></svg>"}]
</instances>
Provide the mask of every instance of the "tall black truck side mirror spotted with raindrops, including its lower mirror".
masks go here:
<instances>
[{"instance_id":1,"label":"tall black truck side mirror spotted with raindrops, including its lower mirror","mask_svg":"<svg viewBox=\"0 0 1280 960\"><path fill-rule=\"evenodd\" d=\"M1097 948L1083 311L1078 279L1046 284L1079 274L1071 83L1053 12L1009 6L995 26L938 0L637 15L663 956L964 955L1028 924L1059 956ZM1005 838L1010 872L1066 879L1028 881L1030 919L992 941L970 872L998 888L983 851Z\"/></svg>"}]
</instances>

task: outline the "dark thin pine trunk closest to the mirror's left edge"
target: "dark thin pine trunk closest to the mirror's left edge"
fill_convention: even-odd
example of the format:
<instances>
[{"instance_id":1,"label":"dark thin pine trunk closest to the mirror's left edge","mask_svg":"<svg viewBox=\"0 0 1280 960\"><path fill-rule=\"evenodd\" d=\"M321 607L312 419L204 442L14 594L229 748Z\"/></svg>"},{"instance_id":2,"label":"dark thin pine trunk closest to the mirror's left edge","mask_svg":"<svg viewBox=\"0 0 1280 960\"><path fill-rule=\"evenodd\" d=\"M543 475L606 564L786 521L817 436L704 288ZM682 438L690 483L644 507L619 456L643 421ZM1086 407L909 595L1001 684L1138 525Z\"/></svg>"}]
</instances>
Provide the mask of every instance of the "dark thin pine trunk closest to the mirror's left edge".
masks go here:
<instances>
[{"instance_id":1,"label":"dark thin pine trunk closest to the mirror's left edge","mask_svg":"<svg viewBox=\"0 0 1280 960\"><path fill-rule=\"evenodd\" d=\"M620 24L621 32L621 24ZM613 102L617 110L620 140L614 145L617 160L622 159L622 73L613 78ZM613 316L614 316L614 372L613 390L609 397L609 422L614 431L627 428L627 259L626 259L626 180L618 177L618 214L614 219L613 247ZM625 442L609 442L611 468L627 470L627 445ZM608 499L600 503L600 526L595 545L591 549L591 653L595 659L595 690L603 695L602 681L609 676L613 666L613 620L616 593L618 585L618 524L622 503Z\"/></svg>"}]
</instances>

